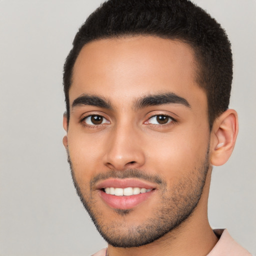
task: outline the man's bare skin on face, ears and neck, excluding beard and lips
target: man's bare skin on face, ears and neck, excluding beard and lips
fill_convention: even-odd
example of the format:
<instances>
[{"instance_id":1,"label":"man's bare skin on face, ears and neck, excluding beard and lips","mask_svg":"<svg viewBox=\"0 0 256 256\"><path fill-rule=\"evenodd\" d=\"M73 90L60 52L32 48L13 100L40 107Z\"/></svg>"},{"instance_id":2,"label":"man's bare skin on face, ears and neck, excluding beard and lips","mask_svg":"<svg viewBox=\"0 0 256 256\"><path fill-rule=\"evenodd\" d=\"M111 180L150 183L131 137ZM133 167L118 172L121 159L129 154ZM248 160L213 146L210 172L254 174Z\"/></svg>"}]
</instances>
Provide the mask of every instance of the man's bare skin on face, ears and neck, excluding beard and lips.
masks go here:
<instances>
[{"instance_id":1,"label":"man's bare skin on face, ears and neck, excluding beard and lips","mask_svg":"<svg viewBox=\"0 0 256 256\"><path fill-rule=\"evenodd\" d=\"M193 51L187 44L153 36L93 41L77 57L69 91L69 123L65 115L63 118L67 131L63 144L81 196L90 201L101 226L113 226L113 231L118 226L118 235L124 237L130 226L136 228L152 218L162 207L163 196L171 197L178 183L192 177L182 194L189 195L191 189L196 189L195 178L203 175L205 159L209 166L193 214L147 245L109 245L110 256L206 255L217 242L207 219L210 174L212 164L223 164L232 152L237 115L228 109L209 130L207 98L196 83L195 68ZM137 98L165 92L184 98L189 107L168 103L134 108ZM73 101L84 94L104 97L112 108L83 104L72 107ZM103 116L104 122L93 126L81 121L91 114ZM157 114L169 115L175 121L155 123L152 116ZM160 176L166 186L161 190L153 184L155 190L150 197L127 214L120 214L101 199L94 186L90 187L90 181L97 174L134 168Z\"/></svg>"}]
</instances>

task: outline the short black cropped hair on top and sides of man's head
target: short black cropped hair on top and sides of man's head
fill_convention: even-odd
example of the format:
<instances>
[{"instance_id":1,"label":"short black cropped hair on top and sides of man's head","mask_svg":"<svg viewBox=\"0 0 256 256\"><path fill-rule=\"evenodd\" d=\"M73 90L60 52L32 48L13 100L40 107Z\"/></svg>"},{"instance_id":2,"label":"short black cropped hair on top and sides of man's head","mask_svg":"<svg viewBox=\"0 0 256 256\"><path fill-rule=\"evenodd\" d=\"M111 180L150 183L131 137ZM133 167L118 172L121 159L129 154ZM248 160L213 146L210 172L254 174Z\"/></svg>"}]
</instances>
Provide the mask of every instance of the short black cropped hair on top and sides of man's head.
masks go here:
<instances>
[{"instance_id":1,"label":"short black cropped hair on top and sides of man's head","mask_svg":"<svg viewBox=\"0 0 256 256\"><path fill-rule=\"evenodd\" d=\"M196 81L207 95L210 129L228 108L232 83L231 44L220 24L189 0L108 0L81 25L66 57L63 85L69 120L68 92L81 48L103 38L152 35L191 46L197 64Z\"/></svg>"}]
</instances>

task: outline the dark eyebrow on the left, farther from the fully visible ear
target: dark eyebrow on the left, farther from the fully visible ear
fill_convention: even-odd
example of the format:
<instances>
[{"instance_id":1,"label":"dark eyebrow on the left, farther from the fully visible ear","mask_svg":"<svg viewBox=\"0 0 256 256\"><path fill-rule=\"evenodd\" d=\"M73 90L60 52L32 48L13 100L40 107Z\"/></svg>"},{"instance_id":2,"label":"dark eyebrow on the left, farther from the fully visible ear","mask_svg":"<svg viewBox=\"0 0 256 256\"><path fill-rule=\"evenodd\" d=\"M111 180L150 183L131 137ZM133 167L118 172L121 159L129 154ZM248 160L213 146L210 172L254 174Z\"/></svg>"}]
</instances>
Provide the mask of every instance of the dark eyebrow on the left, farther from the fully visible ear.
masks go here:
<instances>
[{"instance_id":1,"label":"dark eyebrow on the left, farther from the fully visible ear","mask_svg":"<svg viewBox=\"0 0 256 256\"><path fill-rule=\"evenodd\" d=\"M98 106L98 107L107 108L107 109L113 109L109 101L107 101L103 97L96 96L96 95L82 94L81 96L74 99L72 103L72 108L76 106L83 106L83 105L91 105L91 106Z\"/></svg>"}]
</instances>

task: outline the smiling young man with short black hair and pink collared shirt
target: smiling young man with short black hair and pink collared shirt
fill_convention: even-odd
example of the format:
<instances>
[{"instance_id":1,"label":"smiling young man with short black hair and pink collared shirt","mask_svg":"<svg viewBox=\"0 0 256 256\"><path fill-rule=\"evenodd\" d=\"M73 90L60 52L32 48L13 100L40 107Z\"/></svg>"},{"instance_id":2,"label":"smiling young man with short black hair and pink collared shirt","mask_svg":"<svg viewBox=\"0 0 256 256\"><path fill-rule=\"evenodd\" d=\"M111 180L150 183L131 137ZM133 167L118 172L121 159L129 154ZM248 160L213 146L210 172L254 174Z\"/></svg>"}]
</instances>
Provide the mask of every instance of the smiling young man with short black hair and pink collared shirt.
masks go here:
<instances>
[{"instance_id":1,"label":"smiling young man with short black hair and pink collared shirt","mask_svg":"<svg viewBox=\"0 0 256 256\"><path fill-rule=\"evenodd\" d=\"M250 255L212 230L213 165L234 147L230 43L187 0L109 0L64 65L63 144L108 242L95 255Z\"/></svg>"}]
</instances>

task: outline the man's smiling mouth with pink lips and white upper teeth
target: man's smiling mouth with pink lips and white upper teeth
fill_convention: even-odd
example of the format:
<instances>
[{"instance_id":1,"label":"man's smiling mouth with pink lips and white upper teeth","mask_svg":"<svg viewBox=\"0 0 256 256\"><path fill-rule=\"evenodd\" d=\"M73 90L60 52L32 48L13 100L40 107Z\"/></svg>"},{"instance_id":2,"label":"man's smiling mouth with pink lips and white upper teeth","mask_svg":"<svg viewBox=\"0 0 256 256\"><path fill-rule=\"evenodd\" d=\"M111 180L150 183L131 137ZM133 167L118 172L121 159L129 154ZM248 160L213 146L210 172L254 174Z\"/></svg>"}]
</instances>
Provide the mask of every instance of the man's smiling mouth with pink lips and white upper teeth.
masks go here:
<instances>
[{"instance_id":1,"label":"man's smiling mouth with pink lips and white upper teeth","mask_svg":"<svg viewBox=\"0 0 256 256\"><path fill-rule=\"evenodd\" d=\"M96 186L99 197L110 208L131 209L151 197L156 186L136 179L110 178Z\"/></svg>"}]
</instances>

